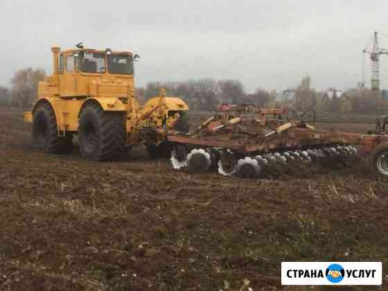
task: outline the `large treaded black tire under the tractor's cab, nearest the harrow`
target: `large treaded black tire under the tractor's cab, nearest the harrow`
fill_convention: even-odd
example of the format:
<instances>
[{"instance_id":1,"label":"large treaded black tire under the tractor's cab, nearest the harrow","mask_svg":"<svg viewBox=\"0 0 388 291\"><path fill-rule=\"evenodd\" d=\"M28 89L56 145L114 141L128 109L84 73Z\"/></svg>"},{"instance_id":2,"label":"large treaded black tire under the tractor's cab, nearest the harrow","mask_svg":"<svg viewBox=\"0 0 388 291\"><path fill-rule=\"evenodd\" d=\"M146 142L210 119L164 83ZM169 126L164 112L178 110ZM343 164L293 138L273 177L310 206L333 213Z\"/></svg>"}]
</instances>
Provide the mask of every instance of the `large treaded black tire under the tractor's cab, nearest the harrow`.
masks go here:
<instances>
[{"instance_id":1,"label":"large treaded black tire under the tractor's cab, nearest the harrow","mask_svg":"<svg viewBox=\"0 0 388 291\"><path fill-rule=\"evenodd\" d=\"M104 112L98 104L87 105L78 125L80 151L86 159L115 161L125 148L124 115Z\"/></svg>"}]
</instances>

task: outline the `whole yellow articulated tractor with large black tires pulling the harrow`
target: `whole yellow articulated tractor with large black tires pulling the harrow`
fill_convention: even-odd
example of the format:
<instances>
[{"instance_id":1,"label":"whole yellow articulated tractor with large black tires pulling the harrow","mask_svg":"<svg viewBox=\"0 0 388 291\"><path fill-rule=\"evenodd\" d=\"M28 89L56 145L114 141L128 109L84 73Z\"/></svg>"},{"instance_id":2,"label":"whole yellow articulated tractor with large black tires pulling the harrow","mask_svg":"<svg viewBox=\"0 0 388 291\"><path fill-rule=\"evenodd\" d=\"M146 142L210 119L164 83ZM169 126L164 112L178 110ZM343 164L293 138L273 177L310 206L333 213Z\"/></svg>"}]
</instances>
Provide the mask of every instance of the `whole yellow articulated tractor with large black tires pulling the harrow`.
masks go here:
<instances>
[{"instance_id":1,"label":"whole yellow articulated tractor with large black tires pulling the harrow","mask_svg":"<svg viewBox=\"0 0 388 291\"><path fill-rule=\"evenodd\" d=\"M118 159L123 150L145 143L150 155L166 155L166 131L182 123L188 106L164 90L140 106L134 96L134 61L130 51L76 49L53 52L53 75L39 82L38 100L26 122L33 123L33 142L44 152L64 154L78 134L82 156ZM167 147L168 148L168 147Z\"/></svg>"}]
</instances>

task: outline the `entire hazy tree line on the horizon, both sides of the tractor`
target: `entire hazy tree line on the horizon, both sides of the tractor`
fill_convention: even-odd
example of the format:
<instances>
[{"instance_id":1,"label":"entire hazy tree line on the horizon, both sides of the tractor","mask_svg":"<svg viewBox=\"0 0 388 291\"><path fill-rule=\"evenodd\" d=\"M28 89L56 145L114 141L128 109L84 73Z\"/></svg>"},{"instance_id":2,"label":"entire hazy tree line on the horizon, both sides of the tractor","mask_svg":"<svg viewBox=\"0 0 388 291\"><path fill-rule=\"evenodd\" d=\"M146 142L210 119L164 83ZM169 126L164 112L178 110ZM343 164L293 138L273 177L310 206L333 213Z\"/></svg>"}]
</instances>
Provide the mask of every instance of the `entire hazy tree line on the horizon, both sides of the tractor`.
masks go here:
<instances>
[{"instance_id":1,"label":"entire hazy tree line on the horizon, both sides of the tractor","mask_svg":"<svg viewBox=\"0 0 388 291\"><path fill-rule=\"evenodd\" d=\"M10 87L0 86L0 105L29 107L37 99L38 82L44 80L44 69L21 69L10 79ZM252 94L245 91L240 80L214 80L202 78L182 82L149 82L136 88L136 97L141 103L158 96L166 89L168 96L183 98L193 110L211 111L220 103L253 103L259 107L288 107L299 112L316 110L351 116L355 113L370 113L376 110L375 95L370 89L358 85L341 91L328 88L317 91L311 87L306 76L294 89L276 91L259 87Z\"/></svg>"}]
</instances>

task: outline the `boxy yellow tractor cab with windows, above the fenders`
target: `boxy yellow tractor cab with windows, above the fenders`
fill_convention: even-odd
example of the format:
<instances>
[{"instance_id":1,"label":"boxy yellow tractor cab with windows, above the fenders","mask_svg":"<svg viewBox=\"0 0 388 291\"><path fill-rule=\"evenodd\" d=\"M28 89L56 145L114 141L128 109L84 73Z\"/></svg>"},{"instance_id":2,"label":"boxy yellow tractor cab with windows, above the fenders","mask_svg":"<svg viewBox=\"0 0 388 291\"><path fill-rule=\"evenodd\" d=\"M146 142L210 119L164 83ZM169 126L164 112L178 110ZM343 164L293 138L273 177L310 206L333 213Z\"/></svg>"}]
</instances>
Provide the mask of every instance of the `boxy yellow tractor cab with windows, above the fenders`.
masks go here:
<instances>
[{"instance_id":1,"label":"boxy yellow tractor cab with windows, above the fenders","mask_svg":"<svg viewBox=\"0 0 388 291\"><path fill-rule=\"evenodd\" d=\"M134 61L139 55L130 51L100 51L77 48L60 51L52 48L54 55L53 84L42 84L39 95L56 85L60 98L85 96L127 98L128 87L133 88Z\"/></svg>"}]
</instances>

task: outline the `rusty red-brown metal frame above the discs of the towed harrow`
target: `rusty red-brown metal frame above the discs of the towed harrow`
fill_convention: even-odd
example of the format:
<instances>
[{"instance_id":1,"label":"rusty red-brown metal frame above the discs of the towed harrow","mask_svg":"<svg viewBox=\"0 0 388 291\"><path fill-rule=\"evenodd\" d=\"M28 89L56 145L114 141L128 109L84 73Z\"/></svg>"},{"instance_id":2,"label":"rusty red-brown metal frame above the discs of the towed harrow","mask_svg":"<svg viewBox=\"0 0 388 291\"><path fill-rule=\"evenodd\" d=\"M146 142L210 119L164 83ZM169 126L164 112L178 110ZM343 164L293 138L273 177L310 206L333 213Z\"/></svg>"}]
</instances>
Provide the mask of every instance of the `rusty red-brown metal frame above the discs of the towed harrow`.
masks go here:
<instances>
[{"instance_id":1,"label":"rusty red-brown metal frame above the discs of the towed harrow","mask_svg":"<svg viewBox=\"0 0 388 291\"><path fill-rule=\"evenodd\" d=\"M191 134L168 134L168 141L245 153L333 144L362 145L367 152L371 152L378 144L388 141L387 134L366 135L316 130L303 120L290 120L288 109L222 105L220 112L208 118Z\"/></svg>"}]
</instances>

